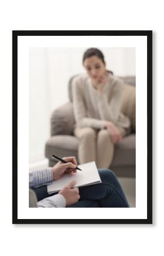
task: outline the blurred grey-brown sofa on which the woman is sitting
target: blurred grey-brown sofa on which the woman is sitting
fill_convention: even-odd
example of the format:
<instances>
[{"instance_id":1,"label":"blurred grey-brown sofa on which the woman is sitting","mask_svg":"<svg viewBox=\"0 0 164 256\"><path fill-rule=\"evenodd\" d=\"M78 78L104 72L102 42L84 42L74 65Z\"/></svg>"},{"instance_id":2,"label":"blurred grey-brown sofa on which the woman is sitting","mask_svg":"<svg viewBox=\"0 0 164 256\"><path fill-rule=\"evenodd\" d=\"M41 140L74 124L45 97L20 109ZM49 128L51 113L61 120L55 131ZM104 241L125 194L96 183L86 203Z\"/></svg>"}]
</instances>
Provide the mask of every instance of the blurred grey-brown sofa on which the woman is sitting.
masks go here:
<instances>
[{"instance_id":1,"label":"blurred grey-brown sofa on which the woman is sitting","mask_svg":"<svg viewBox=\"0 0 164 256\"><path fill-rule=\"evenodd\" d=\"M70 101L55 109L51 115L51 138L45 145L45 156L49 166L54 166L51 155L75 156L78 162L79 141L73 135L75 118L72 106L72 77L68 84ZM115 144L115 152L110 170L120 177L135 177L136 172L136 90L135 76L119 77L124 81L122 113L131 120L131 134Z\"/></svg>"}]
</instances>

